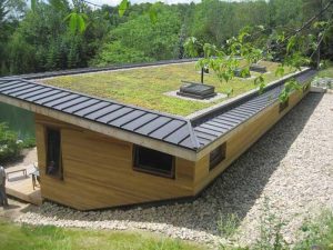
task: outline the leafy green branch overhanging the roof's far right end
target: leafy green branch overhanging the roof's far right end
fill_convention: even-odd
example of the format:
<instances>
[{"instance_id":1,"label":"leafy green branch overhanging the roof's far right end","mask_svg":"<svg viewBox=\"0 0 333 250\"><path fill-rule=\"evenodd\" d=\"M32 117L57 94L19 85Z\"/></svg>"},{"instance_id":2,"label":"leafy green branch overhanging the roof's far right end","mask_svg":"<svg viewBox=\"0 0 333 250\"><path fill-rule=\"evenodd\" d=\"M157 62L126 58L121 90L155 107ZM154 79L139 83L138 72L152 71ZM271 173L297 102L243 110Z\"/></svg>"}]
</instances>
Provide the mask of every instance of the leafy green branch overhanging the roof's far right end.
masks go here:
<instances>
[{"instance_id":1,"label":"leafy green branch overhanging the roof's far right end","mask_svg":"<svg viewBox=\"0 0 333 250\"><path fill-rule=\"evenodd\" d=\"M253 27L243 28L236 37L228 39L225 44L220 47L201 42L196 38L191 37L184 43L185 51L190 57L202 56L203 58L198 62L198 68L210 68L214 70L221 82L229 82L236 76L235 72L238 71L240 71L242 77L249 76L250 67L253 62L256 63L263 59L272 59L276 57L278 53L280 53L279 57L282 57L282 63L275 71L276 76L284 73L285 66L301 70L303 66L311 63L312 57L315 53L319 54L322 41L325 40L331 29L333 29L333 21L331 19L329 19L329 21L319 20L314 22L314 20L319 19L331 6L332 2L327 2L325 7L320 9L319 13L315 13L313 18L302 23L300 28L287 36L285 36L284 31L278 31L276 33L274 33L274 31L270 36L273 46L268 44L264 48L258 47L260 42L254 42L258 40L255 34L265 30L263 26L258 26L256 28L259 30L254 30ZM311 24L313 30L310 29L310 33L304 34L303 31L307 30L307 26ZM317 38L313 34L316 30L319 30ZM200 51L202 52L200 53ZM311 53L311 56L307 57L307 53ZM245 64L241 64L239 57L244 59ZM320 64L319 59L316 63ZM258 84L259 91L263 92L265 88L264 77L260 76L255 78L254 84ZM300 89L301 87L294 79L287 80L280 93L280 101L285 102L293 91Z\"/></svg>"}]
</instances>

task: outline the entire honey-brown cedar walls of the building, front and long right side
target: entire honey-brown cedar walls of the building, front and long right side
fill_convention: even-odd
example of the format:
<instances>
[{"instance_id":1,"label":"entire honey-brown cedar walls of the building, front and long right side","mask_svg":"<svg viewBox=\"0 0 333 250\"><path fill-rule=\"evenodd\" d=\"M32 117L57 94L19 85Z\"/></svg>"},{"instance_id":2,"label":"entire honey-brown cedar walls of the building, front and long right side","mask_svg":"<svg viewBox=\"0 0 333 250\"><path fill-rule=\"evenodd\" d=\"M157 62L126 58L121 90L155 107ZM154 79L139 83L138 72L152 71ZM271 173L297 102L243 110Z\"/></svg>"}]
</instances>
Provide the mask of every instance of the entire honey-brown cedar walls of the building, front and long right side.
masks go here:
<instances>
[{"instance_id":1,"label":"entire honey-brown cedar walls of the building, front and long right side","mask_svg":"<svg viewBox=\"0 0 333 250\"><path fill-rule=\"evenodd\" d=\"M133 144L130 142L36 114L42 198L90 210L195 196L305 93L294 92L282 112L276 102L221 138L215 146L226 141L226 159L212 171L209 171L209 153L196 162L176 158L175 179L134 171ZM63 180L46 176L47 127L61 130Z\"/></svg>"}]
</instances>

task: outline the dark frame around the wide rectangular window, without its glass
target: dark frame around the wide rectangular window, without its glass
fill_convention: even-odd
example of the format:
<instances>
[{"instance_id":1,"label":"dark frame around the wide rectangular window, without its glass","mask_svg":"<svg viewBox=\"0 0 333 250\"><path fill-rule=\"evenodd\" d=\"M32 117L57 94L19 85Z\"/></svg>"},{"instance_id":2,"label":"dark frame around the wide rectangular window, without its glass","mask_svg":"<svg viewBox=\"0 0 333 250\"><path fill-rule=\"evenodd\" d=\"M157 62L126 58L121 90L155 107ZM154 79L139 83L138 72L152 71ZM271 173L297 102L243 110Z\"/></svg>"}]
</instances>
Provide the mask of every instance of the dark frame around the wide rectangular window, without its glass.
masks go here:
<instances>
[{"instance_id":1,"label":"dark frame around the wide rectangular window, without its glass","mask_svg":"<svg viewBox=\"0 0 333 250\"><path fill-rule=\"evenodd\" d=\"M140 149L151 150L151 151L155 151L158 153L170 156L172 158L170 172L161 171L159 169L154 169L152 167L141 164L140 161L139 161L140 160L140 158L139 158ZM144 173L149 173L149 174L152 174L152 176L175 179L175 157L171 156L171 154L168 154L168 153L164 153L164 152L161 152L161 151L158 151L158 150L154 150L154 149L149 149L149 148L145 148L145 147L142 147L142 146L133 146L133 164L132 166L133 166L133 170L138 171L138 172L144 172Z\"/></svg>"}]
</instances>

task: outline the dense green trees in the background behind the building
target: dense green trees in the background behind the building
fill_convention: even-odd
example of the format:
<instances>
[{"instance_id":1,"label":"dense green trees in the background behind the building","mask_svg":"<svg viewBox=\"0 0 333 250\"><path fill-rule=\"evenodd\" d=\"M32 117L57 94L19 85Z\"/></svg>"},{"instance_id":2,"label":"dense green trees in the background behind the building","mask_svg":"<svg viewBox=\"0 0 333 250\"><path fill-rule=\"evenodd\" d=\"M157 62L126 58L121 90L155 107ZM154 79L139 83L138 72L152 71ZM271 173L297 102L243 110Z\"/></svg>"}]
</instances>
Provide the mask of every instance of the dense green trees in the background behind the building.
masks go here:
<instances>
[{"instance_id":1,"label":"dense green trees in the background behind the building","mask_svg":"<svg viewBox=\"0 0 333 250\"><path fill-rule=\"evenodd\" d=\"M256 42L274 32L289 32L329 0L258 0L199 4L154 4L158 19L150 21L151 3L133 4L120 17L118 7L97 8L82 0L0 0L0 74L70 69L88 66L183 58L185 38L222 46L245 26L263 26ZM332 10L332 9L331 9ZM322 19L332 18L327 11ZM84 32L69 28L69 14L84 17ZM315 34L320 29L313 31ZM276 34L278 36L278 34ZM333 56L333 31L321 44L324 58ZM279 58L279 56L276 56Z\"/></svg>"}]
</instances>

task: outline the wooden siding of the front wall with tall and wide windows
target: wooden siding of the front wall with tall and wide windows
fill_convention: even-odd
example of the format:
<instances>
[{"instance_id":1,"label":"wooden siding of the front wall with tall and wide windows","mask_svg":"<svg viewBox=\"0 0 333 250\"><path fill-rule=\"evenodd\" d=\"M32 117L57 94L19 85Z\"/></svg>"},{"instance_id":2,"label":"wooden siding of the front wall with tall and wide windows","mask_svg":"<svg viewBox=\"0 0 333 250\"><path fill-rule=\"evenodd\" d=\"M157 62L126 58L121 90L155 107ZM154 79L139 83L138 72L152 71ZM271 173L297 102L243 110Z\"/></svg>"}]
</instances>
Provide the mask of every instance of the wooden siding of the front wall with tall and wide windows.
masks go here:
<instances>
[{"instance_id":1,"label":"wooden siding of the front wall with tall and wide windows","mask_svg":"<svg viewBox=\"0 0 333 250\"><path fill-rule=\"evenodd\" d=\"M46 174L47 127L61 129L63 180ZM80 210L189 197L194 162L176 158L175 179L132 169L133 144L36 114L42 197Z\"/></svg>"}]
</instances>

